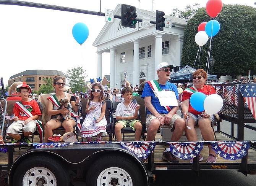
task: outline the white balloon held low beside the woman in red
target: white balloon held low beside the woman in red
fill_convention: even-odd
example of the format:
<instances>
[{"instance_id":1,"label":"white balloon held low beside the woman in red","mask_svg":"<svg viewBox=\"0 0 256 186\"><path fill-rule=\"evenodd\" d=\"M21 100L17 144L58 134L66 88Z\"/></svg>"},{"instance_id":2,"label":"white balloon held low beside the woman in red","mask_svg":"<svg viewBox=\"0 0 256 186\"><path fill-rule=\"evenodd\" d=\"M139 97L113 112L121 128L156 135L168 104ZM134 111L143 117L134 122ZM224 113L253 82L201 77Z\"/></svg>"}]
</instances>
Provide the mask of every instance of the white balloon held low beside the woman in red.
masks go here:
<instances>
[{"instance_id":1,"label":"white balloon held low beside the woman in red","mask_svg":"<svg viewBox=\"0 0 256 186\"><path fill-rule=\"evenodd\" d=\"M204 100L204 110L207 114L216 114L223 106L222 97L218 94L211 94Z\"/></svg>"}]
</instances>

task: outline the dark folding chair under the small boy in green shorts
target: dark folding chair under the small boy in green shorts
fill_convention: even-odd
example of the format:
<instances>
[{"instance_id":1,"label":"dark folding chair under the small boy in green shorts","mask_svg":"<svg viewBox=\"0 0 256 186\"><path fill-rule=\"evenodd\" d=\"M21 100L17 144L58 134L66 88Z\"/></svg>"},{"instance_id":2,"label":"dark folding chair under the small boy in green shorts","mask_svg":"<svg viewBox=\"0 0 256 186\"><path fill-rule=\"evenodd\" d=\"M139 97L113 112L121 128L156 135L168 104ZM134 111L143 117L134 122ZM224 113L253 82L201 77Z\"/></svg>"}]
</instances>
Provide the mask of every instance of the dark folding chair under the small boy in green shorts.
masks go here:
<instances>
[{"instance_id":1,"label":"dark folding chair under the small boy in green shorts","mask_svg":"<svg viewBox=\"0 0 256 186\"><path fill-rule=\"evenodd\" d=\"M119 103L121 103L122 101L115 101L115 102L112 102L112 111L111 111L111 114L112 114L112 127L113 127L113 132L115 134L115 123L117 122L117 119L115 119L114 117L114 114L115 113L115 110L117 109L117 105ZM141 118L140 118L140 114L138 114L138 120L141 121ZM123 141L125 141L125 133L126 134L130 134L130 133L135 133L135 130L133 130L133 128L131 127L123 127L122 130L121 130L121 133L123 133ZM145 141L145 136L144 136L144 132L143 132L143 129L141 130L141 135L143 137L143 140ZM134 136L134 135L126 135L126 136ZM116 141L116 136L115 136L115 141Z\"/></svg>"}]
</instances>

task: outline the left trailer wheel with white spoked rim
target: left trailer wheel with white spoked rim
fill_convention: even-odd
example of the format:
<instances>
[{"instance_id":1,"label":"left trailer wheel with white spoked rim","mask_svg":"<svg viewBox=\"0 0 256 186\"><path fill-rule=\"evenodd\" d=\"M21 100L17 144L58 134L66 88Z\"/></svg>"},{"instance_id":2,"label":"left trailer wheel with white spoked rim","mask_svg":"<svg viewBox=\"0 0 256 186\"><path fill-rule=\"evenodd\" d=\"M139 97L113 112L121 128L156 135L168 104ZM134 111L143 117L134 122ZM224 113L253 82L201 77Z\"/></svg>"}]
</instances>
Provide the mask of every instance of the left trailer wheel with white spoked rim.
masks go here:
<instances>
[{"instance_id":1,"label":"left trailer wheel with white spoked rim","mask_svg":"<svg viewBox=\"0 0 256 186\"><path fill-rule=\"evenodd\" d=\"M32 156L18 165L13 175L13 185L69 186L69 173L52 158Z\"/></svg>"}]
</instances>

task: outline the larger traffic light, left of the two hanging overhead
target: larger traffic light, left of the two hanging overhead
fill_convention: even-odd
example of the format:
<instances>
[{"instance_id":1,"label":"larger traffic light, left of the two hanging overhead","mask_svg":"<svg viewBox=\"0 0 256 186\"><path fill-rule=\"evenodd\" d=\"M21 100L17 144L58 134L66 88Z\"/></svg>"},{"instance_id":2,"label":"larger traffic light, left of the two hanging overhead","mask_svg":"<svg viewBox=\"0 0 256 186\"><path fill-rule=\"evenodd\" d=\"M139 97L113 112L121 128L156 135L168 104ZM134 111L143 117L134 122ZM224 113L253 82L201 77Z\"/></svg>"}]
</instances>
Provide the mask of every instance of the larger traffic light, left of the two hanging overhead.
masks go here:
<instances>
[{"instance_id":1,"label":"larger traffic light, left of the two hanging overhead","mask_svg":"<svg viewBox=\"0 0 256 186\"><path fill-rule=\"evenodd\" d=\"M136 28L137 14L135 6L122 4L121 6L121 21L123 27Z\"/></svg>"}]
</instances>

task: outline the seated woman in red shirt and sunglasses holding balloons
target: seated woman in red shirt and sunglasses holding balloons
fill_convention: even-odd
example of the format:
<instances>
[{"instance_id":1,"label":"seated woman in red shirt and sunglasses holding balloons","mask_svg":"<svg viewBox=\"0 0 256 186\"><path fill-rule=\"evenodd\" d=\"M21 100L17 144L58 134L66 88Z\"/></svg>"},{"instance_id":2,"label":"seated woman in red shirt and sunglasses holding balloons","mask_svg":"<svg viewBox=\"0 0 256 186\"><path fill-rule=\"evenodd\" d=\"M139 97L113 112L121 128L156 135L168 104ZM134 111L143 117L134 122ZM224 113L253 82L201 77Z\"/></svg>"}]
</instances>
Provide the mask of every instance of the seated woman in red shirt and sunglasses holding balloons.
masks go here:
<instances>
[{"instance_id":1,"label":"seated woman in red shirt and sunglasses holding balloons","mask_svg":"<svg viewBox=\"0 0 256 186\"><path fill-rule=\"evenodd\" d=\"M206 141L214 140L214 132L212 130L212 124L215 124L217 121L215 115L209 115L205 111L199 112L196 111L190 105L190 97L195 92L202 92L206 96L210 94L216 94L214 87L206 85L207 73L203 69L198 69L193 73L193 87L185 89L179 96L180 101L182 102L182 111L183 114L181 117L187 122L187 127L185 127L185 134L188 138L188 141L197 141L196 130L194 126L198 125L201 130L202 136ZM215 163L216 154L215 151L209 147L209 156L206 160L206 163ZM203 161L203 157L199 154L199 161ZM193 158L190 159L190 163L193 163Z\"/></svg>"}]
</instances>

